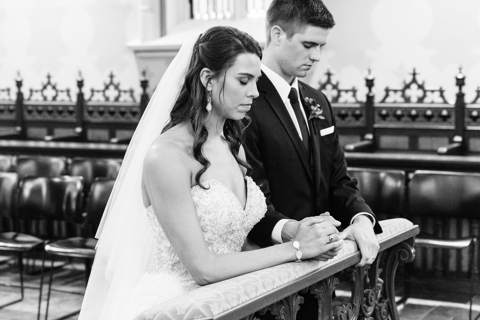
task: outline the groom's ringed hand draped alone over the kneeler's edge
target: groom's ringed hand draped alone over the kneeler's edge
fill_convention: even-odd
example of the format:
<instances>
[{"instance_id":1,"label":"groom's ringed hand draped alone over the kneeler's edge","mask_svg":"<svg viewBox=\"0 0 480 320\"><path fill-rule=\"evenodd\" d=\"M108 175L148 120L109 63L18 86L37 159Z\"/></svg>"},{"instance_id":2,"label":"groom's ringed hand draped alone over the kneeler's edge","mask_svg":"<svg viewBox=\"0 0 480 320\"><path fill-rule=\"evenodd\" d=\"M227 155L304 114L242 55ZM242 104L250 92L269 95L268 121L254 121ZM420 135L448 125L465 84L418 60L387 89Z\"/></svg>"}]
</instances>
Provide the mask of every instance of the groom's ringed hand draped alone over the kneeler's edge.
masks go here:
<instances>
[{"instance_id":1,"label":"groom's ringed hand draped alone over the kneeler's edge","mask_svg":"<svg viewBox=\"0 0 480 320\"><path fill-rule=\"evenodd\" d=\"M372 220L366 215L355 217L353 223L340 233L340 239L351 239L357 242L361 260L356 266L372 264L380 249L375 232L373 232Z\"/></svg>"}]
</instances>

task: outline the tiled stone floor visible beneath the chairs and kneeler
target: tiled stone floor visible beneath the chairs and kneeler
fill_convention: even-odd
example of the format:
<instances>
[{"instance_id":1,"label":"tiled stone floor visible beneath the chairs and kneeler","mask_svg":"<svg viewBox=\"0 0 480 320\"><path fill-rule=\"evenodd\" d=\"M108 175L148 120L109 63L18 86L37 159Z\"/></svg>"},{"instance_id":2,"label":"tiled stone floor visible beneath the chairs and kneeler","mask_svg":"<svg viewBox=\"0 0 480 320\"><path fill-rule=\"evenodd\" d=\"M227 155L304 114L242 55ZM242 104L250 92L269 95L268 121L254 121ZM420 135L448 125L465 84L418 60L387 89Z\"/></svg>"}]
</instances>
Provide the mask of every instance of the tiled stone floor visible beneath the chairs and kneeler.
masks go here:
<instances>
[{"instance_id":1,"label":"tiled stone floor visible beneath the chairs and kneeler","mask_svg":"<svg viewBox=\"0 0 480 320\"><path fill-rule=\"evenodd\" d=\"M33 260L28 261L32 264ZM25 259L25 263L27 263ZM0 309L1 320L36 320L40 274L39 261L36 267L30 267L30 274L24 276L24 300ZM70 263L63 267L61 262L54 264L54 281L50 297L48 318L55 319L80 309L85 291L84 266L82 263ZM48 264L47 264L48 265ZM49 266L49 265L48 265ZM36 269L36 270L35 270ZM28 271L28 270L27 270ZM36 272L35 272L36 271ZM46 280L48 279L48 274ZM17 299L19 294L19 276L14 261L0 259L0 305ZM41 318L45 317L47 284L43 286ZM349 292L337 290L338 298L348 299ZM452 297L447 292L421 292L409 298L407 303L399 305L401 320L468 320L468 304L466 297ZM473 306L475 318L480 313L480 298L476 298ZM68 320L77 320L73 315Z\"/></svg>"}]
</instances>

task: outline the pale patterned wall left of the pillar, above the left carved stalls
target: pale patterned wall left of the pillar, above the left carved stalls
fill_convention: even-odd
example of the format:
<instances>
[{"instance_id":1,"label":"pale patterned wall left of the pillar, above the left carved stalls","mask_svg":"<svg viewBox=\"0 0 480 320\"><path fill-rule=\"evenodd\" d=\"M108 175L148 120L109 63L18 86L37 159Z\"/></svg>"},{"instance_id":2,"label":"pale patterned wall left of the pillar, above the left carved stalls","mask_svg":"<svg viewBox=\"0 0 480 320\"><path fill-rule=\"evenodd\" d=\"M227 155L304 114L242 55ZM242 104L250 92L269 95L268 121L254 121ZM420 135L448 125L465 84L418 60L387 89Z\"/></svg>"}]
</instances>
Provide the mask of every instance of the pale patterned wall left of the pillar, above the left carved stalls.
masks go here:
<instances>
[{"instance_id":1,"label":"pale patterned wall left of the pillar, above the left carved stalls","mask_svg":"<svg viewBox=\"0 0 480 320\"><path fill-rule=\"evenodd\" d=\"M50 72L76 93L82 70L87 93L113 71L138 97L139 71L125 46L138 36L136 8L137 0L0 0L0 88L13 89L19 70L26 93Z\"/></svg>"}]
</instances>

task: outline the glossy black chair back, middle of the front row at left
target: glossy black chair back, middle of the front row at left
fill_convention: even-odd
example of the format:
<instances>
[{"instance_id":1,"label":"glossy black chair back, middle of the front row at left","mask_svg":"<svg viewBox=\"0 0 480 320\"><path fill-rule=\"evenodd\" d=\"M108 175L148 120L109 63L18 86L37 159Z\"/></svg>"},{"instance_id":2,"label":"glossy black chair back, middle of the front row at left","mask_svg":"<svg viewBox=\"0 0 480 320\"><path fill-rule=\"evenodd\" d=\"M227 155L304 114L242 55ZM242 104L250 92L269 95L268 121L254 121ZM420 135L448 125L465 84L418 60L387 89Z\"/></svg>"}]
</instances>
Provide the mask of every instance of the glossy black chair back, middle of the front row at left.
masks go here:
<instances>
[{"instance_id":1,"label":"glossy black chair back, middle of the front row at left","mask_svg":"<svg viewBox=\"0 0 480 320\"><path fill-rule=\"evenodd\" d=\"M82 177L26 177L19 186L16 216L75 223L81 220L82 205Z\"/></svg>"}]
</instances>

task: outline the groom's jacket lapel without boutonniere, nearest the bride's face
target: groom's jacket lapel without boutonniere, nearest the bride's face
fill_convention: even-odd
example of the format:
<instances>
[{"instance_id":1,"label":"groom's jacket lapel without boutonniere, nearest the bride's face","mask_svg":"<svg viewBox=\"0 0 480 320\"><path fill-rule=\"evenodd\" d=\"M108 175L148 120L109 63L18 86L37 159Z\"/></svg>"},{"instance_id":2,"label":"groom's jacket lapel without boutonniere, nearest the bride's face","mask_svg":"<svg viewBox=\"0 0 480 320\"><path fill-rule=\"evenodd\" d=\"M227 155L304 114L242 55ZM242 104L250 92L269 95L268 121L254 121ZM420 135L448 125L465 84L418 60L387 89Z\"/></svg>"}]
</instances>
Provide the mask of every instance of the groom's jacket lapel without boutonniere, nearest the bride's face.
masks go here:
<instances>
[{"instance_id":1,"label":"groom's jacket lapel without boutonniere, nearest the bride's face","mask_svg":"<svg viewBox=\"0 0 480 320\"><path fill-rule=\"evenodd\" d=\"M262 77L258 80L257 86L259 90L265 92L265 100L270 104L270 106L282 122L283 126L285 127L285 130L287 131L288 136L290 137L293 145L295 146L295 149L297 149L300 160L305 167L305 170L308 172L310 178L312 179L310 173L310 166L307 161L307 154L305 152L305 148L303 147L303 143L300 139L297 128L295 128L292 118L290 117L290 114L288 114L287 108L285 107L285 104L280 98L278 91L276 91L275 86L267 78L264 72L262 72Z\"/></svg>"}]
</instances>

